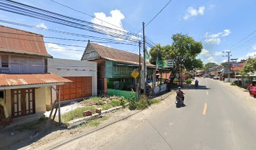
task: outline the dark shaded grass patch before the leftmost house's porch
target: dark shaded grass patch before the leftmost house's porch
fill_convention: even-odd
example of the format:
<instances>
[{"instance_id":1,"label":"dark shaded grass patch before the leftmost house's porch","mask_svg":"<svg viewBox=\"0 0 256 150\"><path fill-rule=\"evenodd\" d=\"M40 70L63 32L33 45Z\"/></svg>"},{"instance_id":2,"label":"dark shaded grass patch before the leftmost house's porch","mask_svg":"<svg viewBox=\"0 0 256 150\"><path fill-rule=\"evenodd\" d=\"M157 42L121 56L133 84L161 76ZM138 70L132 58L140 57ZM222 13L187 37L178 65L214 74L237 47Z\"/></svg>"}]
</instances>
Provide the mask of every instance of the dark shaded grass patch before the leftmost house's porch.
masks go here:
<instances>
[{"instance_id":1,"label":"dark shaded grass patch before the leftmost house's porch","mask_svg":"<svg viewBox=\"0 0 256 150\"><path fill-rule=\"evenodd\" d=\"M43 115L38 120L19 125L19 127L16 128L16 130L17 131L26 131L26 130L34 130L34 129L43 129L43 127L45 127L47 119L48 118L46 118L45 115Z\"/></svg>"}]
</instances>

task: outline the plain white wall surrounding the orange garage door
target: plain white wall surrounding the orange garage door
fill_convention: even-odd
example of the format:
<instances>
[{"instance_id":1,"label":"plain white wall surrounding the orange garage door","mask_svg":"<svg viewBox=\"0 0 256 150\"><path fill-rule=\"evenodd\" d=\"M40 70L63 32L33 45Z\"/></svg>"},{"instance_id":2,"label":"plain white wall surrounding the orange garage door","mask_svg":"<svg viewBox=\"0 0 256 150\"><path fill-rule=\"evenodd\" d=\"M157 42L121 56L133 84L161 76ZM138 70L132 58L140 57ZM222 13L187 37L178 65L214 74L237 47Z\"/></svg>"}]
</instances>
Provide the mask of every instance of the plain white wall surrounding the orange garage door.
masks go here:
<instances>
[{"instance_id":1,"label":"plain white wall surrounding the orange garage door","mask_svg":"<svg viewBox=\"0 0 256 150\"><path fill-rule=\"evenodd\" d=\"M53 73L62 77L92 77L92 96L97 96L97 63L91 61L75 61L70 59L47 59L48 73ZM70 69L70 70L68 70ZM75 70L77 69L77 70ZM56 93L53 91L53 101Z\"/></svg>"}]
</instances>

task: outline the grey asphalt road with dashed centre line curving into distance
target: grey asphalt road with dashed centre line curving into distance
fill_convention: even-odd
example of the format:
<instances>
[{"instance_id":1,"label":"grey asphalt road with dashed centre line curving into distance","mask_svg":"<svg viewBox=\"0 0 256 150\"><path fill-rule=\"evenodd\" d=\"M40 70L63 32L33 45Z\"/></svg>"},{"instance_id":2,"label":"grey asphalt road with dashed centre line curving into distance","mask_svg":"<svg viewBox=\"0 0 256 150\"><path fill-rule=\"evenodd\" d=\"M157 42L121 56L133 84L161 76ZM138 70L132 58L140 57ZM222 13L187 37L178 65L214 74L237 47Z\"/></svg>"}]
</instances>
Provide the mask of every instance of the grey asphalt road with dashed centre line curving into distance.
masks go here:
<instances>
[{"instance_id":1,"label":"grey asphalt road with dashed centre line curving into distance","mask_svg":"<svg viewBox=\"0 0 256 150\"><path fill-rule=\"evenodd\" d=\"M186 107L147 118L110 149L256 149L256 118L218 81L200 78Z\"/></svg>"}]
</instances>

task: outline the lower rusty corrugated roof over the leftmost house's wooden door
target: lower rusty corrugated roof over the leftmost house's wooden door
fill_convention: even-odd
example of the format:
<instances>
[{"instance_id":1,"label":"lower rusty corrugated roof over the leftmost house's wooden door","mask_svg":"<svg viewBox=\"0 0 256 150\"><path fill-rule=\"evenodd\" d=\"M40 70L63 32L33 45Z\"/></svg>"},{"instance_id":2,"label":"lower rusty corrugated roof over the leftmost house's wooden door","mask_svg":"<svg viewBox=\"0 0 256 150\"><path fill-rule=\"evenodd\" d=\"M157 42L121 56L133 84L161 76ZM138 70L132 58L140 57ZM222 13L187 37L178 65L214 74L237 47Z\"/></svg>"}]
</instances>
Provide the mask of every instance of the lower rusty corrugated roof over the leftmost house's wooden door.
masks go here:
<instances>
[{"instance_id":1,"label":"lower rusty corrugated roof over the leftmost house's wooden door","mask_svg":"<svg viewBox=\"0 0 256 150\"><path fill-rule=\"evenodd\" d=\"M72 83L72 81L55 74L0 74L0 86L49 83Z\"/></svg>"}]
</instances>

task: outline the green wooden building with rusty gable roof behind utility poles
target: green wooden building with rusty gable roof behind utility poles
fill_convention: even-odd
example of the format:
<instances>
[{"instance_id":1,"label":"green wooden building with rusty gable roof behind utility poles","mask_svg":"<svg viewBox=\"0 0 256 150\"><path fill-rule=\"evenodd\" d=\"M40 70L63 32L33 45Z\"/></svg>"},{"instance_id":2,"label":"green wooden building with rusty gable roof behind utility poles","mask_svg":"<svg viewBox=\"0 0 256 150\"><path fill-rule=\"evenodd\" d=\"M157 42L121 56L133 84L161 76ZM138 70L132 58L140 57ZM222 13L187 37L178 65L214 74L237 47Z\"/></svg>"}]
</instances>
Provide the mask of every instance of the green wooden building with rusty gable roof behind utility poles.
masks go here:
<instances>
[{"instance_id":1,"label":"green wooden building with rusty gable roof behind utility poles","mask_svg":"<svg viewBox=\"0 0 256 150\"><path fill-rule=\"evenodd\" d=\"M135 79L132 71L139 68L138 54L120 51L107 46L93 44L88 41L83 53L82 61L94 61L97 63L98 93L115 96L130 97L131 89L136 90ZM156 73L154 65L147 64L147 79L152 80L152 74ZM138 80L138 79L137 79Z\"/></svg>"}]
</instances>

